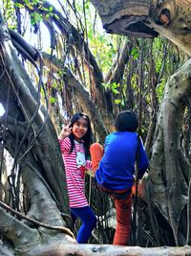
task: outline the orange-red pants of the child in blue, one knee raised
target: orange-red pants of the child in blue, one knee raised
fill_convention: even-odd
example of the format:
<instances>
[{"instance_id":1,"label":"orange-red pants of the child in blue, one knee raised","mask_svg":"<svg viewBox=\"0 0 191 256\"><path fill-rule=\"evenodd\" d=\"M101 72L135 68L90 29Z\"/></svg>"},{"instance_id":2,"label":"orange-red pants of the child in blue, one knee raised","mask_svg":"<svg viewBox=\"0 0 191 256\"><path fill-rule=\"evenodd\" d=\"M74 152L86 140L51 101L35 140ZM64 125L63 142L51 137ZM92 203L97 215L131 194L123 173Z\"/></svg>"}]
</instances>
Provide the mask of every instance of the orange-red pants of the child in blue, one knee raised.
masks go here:
<instances>
[{"instance_id":1,"label":"orange-red pants of the child in blue, one knee raised","mask_svg":"<svg viewBox=\"0 0 191 256\"><path fill-rule=\"evenodd\" d=\"M90 148L93 170L96 173L99 162L103 156L103 148L100 144L95 143ZM117 210L117 229L113 244L127 245L131 230L131 209L132 195L131 193L123 199L115 199Z\"/></svg>"}]
</instances>

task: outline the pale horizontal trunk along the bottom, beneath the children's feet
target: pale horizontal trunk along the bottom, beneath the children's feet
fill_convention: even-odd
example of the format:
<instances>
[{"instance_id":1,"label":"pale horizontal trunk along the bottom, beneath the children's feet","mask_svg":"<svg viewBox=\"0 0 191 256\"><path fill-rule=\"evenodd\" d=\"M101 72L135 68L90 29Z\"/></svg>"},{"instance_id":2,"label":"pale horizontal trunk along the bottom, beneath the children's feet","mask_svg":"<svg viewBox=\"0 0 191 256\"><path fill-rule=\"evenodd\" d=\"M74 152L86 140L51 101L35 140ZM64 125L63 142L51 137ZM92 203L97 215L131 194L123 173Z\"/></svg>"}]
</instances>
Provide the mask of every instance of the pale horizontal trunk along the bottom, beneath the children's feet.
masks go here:
<instances>
[{"instance_id":1,"label":"pale horizontal trunk along the bottom, beneath the children's feet","mask_svg":"<svg viewBox=\"0 0 191 256\"><path fill-rule=\"evenodd\" d=\"M50 254L50 252L52 254ZM48 253L48 254L47 254ZM141 248L138 246L96 245L96 244L53 244L41 248L33 248L26 256L178 256L190 255L191 247L158 247Z\"/></svg>"}]
</instances>

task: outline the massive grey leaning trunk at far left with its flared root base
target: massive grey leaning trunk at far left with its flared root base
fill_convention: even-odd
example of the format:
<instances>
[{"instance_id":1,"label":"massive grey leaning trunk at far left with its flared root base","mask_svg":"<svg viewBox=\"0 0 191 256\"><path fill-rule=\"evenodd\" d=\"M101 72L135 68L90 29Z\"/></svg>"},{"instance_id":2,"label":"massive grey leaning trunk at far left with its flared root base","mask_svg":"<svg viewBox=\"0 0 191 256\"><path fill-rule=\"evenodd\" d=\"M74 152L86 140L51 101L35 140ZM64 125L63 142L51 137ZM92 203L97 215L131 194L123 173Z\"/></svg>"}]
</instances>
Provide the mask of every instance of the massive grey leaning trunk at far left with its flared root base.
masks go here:
<instances>
[{"instance_id":1,"label":"massive grey leaning trunk at far left with its flared root base","mask_svg":"<svg viewBox=\"0 0 191 256\"><path fill-rule=\"evenodd\" d=\"M4 243L9 244L12 250L20 251L20 255L25 255L24 252L31 246L44 244L47 240L57 238L57 241L67 241L69 236L60 234L60 231L71 235L65 229L66 225L70 226L71 221L67 217L68 195L60 147L48 112L40 105L41 81L37 93L15 54L6 27L2 24L0 34L0 102L5 108L7 106L0 124L7 128L3 141L14 158L10 176L12 206L19 211L18 184L22 178L30 198L26 215L32 220L43 222L45 227L49 224L55 226L52 229L57 228L57 231L34 228L36 224L32 221L23 221L25 218L19 214L21 221L17 220L17 214L12 217L1 204L0 233ZM60 212L65 213L64 217Z\"/></svg>"}]
</instances>

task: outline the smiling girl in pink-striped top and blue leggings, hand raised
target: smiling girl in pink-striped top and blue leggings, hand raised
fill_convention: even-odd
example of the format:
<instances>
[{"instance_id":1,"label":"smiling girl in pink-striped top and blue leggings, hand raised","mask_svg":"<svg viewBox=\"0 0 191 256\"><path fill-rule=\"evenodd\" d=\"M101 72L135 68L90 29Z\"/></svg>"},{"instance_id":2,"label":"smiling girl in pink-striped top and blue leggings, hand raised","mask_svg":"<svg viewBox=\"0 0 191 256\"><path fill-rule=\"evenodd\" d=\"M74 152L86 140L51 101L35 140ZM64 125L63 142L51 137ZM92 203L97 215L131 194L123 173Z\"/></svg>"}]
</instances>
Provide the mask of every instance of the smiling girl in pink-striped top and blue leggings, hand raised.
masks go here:
<instances>
[{"instance_id":1,"label":"smiling girl in pink-striped top and blue leggings, hand raised","mask_svg":"<svg viewBox=\"0 0 191 256\"><path fill-rule=\"evenodd\" d=\"M92 162L86 160L90 155L92 130L90 119L82 113L74 114L71 123L62 128L58 137L64 165L73 222L78 217L82 225L76 241L86 244L96 225L96 216L88 205L84 194L85 170L92 169Z\"/></svg>"}]
</instances>

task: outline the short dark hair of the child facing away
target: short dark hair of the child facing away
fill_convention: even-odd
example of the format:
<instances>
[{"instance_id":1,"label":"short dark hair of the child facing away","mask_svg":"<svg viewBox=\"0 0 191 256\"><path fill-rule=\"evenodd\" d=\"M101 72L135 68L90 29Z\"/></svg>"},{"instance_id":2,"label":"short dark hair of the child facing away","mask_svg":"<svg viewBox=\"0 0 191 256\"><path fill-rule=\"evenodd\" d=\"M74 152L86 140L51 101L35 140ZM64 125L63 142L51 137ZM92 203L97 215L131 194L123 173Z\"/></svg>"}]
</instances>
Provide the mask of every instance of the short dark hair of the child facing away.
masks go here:
<instances>
[{"instance_id":1,"label":"short dark hair of the child facing away","mask_svg":"<svg viewBox=\"0 0 191 256\"><path fill-rule=\"evenodd\" d=\"M123 110L117 115L115 127L118 131L136 131L138 128L138 117L132 111Z\"/></svg>"}]
</instances>

